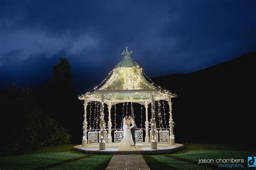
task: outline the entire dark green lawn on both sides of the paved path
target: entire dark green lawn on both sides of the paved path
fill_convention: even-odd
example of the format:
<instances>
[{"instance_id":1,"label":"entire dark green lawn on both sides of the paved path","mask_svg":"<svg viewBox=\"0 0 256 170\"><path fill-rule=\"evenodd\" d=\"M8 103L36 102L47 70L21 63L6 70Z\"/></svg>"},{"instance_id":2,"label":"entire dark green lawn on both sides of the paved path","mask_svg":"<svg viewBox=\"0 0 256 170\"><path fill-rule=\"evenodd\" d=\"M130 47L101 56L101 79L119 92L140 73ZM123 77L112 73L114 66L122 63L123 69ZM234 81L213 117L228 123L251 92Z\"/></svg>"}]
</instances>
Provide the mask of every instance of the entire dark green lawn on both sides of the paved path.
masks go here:
<instances>
[{"instance_id":1,"label":"entire dark green lawn on both sides of the paved path","mask_svg":"<svg viewBox=\"0 0 256 170\"><path fill-rule=\"evenodd\" d=\"M85 154L72 150L75 145L51 146L33 152L0 157L0 169L105 169L112 155ZM215 169L218 164L200 164L198 159L245 159L256 156L245 146L235 144L190 144L172 154L143 155L151 169ZM231 168L225 168L231 169ZM239 169L239 168L235 168ZM255 168L254 168L255 169Z\"/></svg>"}]
</instances>

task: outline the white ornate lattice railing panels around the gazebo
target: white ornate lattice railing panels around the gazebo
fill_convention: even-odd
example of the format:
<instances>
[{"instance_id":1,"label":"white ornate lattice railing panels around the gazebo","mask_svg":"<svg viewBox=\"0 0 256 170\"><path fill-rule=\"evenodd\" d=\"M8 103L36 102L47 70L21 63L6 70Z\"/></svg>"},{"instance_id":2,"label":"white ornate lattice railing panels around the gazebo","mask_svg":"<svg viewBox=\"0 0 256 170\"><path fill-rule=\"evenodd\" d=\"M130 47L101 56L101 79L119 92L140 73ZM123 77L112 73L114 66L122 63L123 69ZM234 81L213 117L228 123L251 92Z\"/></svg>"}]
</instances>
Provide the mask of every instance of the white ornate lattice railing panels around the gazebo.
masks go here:
<instances>
[{"instance_id":1,"label":"white ornate lattice railing panels around the gazebo","mask_svg":"<svg viewBox=\"0 0 256 170\"><path fill-rule=\"evenodd\" d=\"M124 138L124 131L122 128L112 128L114 142L121 142ZM145 128L137 128L135 131L136 142L144 141ZM107 141L108 129L105 128L105 142ZM87 131L88 144L97 144L99 142L100 129L91 129ZM151 141L151 128L149 128L149 136ZM161 143L169 143L170 129L169 128L157 128L156 129L156 141Z\"/></svg>"}]
</instances>

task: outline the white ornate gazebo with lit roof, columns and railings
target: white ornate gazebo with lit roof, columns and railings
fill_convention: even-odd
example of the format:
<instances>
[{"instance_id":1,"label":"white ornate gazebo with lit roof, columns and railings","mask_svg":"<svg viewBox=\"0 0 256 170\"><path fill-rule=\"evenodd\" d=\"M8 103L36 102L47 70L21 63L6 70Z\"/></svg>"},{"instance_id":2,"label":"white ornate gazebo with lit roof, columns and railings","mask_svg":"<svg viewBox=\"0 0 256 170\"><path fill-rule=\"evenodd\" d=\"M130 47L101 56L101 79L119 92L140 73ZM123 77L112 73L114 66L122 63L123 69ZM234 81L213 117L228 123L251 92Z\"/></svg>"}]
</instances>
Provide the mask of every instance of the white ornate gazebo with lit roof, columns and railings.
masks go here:
<instances>
[{"instance_id":1,"label":"white ornate gazebo with lit roof, columns and railings","mask_svg":"<svg viewBox=\"0 0 256 170\"><path fill-rule=\"evenodd\" d=\"M91 137L93 139L99 138L99 149L105 150L106 142L112 142L111 135L111 107L119 103L138 103L144 105L145 107L145 142L151 142L151 148L157 149L158 142L158 131L156 128L156 113L154 108L154 101L164 100L169 104L169 128L163 133L165 138L167 137L167 145L175 145L174 134L173 134L173 119L172 119L172 98L177 97L167 90L163 90L160 86L157 86L153 82L149 82L149 78L145 78L145 73L142 68L131 59L132 51L123 51L123 60L121 60L114 69L109 73L102 83L96 86L91 92L87 92L78 98L84 100L84 121L83 121L83 140L82 146L90 145ZM145 75L146 76L146 75ZM89 134L87 135L87 105L92 101L97 101L100 103L99 107L99 134ZM104 104L108 108L108 123L107 131L104 121ZM151 121L148 120L148 107L151 104ZM91 119L91 118L90 118ZM151 130L149 129L151 126ZM137 136L143 135L142 130L138 130ZM150 131L149 131L150 130ZM170 132L169 132L170 131ZM166 134L167 132L167 134ZM118 135L122 139L122 131L115 131L114 135ZM96 137L97 136L97 137ZM90 138L90 139L89 139ZM140 137L141 138L141 137ZM161 138L161 136L160 136ZM120 140L119 140L120 141ZM143 141L141 139L140 141Z\"/></svg>"}]
</instances>

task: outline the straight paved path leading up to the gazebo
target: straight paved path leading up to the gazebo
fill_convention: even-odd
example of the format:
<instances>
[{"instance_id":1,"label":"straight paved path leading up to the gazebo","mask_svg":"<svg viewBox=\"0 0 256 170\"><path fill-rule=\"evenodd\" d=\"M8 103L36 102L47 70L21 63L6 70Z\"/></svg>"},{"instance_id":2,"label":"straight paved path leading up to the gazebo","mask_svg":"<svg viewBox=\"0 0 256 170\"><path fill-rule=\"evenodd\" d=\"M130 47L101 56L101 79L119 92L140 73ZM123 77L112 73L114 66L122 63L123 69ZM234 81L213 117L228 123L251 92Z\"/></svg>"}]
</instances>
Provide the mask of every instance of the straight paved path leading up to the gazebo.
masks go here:
<instances>
[{"instance_id":1,"label":"straight paved path leading up to the gazebo","mask_svg":"<svg viewBox=\"0 0 256 170\"><path fill-rule=\"evenodd\" d=\"M150 169L142 155L113 155L106 169Z\"/></svg>"}]
</instances>

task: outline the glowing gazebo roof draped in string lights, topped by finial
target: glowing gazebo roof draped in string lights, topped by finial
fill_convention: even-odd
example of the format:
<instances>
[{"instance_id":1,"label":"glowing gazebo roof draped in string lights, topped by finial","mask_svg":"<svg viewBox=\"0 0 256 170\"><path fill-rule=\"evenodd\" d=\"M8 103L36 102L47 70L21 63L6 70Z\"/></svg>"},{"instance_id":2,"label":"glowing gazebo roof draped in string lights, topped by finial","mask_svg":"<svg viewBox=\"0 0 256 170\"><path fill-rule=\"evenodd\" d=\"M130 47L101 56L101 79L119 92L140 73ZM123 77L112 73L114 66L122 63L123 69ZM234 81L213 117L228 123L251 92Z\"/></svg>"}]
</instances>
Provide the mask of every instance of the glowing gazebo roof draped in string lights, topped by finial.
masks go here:
<instances>
[{"instance_id":1,"label":"glowing gazebo roof draped in string lights, topped by finial","mask_svg":"<svg viewBox=\"0 0 256 170\"><path fill-rule=\"evenodd\" d=\"M153 82L149 83L143 74L143 70L131 58L131 53L123 51L123 60L121 60L109 76L97 86L94 91L87 92L79 96L80 100L100 101L104 95L104 102L121 103L123 101L148 100L150 103L151 93L154 93L155 100L168 100L170 97L176 97L167 90L160 89Z\"/></svg>"}]
</instances>

